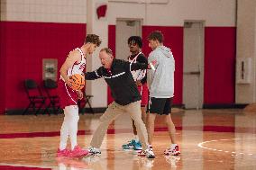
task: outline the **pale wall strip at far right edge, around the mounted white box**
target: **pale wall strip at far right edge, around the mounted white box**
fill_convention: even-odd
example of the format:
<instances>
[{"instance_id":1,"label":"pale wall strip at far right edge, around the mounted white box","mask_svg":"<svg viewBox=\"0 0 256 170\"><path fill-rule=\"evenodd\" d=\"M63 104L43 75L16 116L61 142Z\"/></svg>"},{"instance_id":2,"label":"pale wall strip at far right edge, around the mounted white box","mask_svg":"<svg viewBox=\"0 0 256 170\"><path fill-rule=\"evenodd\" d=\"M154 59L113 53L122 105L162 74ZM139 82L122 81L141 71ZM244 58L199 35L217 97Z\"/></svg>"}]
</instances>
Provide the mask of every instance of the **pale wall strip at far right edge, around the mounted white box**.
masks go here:
<instances>
[{"instance_id":1,"label":"pale wall strip at far right edge, around the mounted white box","mask_svg":"<svg viewBox=\"0 0 256 170\"><path fill-rule=\"evenodd\" d=\"M256 102L256 1L238 0L237 58L251 58L251 83L236 84L235 103Z\"/></svg>"}]
</instances>

